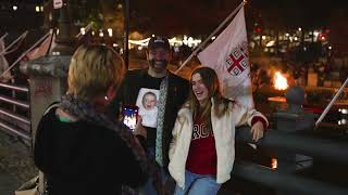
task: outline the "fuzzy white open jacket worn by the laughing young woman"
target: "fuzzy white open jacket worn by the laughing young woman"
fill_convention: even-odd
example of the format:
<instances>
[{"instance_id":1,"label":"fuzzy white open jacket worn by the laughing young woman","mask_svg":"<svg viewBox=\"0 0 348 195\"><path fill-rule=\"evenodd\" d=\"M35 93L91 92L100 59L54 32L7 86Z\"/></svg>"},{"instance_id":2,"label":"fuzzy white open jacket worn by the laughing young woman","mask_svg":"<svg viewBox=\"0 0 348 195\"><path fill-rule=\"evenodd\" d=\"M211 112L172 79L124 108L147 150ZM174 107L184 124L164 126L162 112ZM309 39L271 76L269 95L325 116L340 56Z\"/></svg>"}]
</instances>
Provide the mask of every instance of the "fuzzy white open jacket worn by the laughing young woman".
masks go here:
<instances>
[{"instance_id":1,"label":"fuzzy white open jacket worn by the laughing young woman","mask_svg":"<svg viewBox=\"0 0 348 195\"><path fill-rule=\"evenodd\" d=\"M249 125L254 116L266 118L256 109L249 109L236 103L229 103L228 112L217 118L214 114L214 105L211 109L212 130L215 139L217 156L216 182L224 183L231 179L231 171L235 160L235 127ZM192 136L192 113L188 108L178 112L170 145L169 171L181 187L185 185L185 167Z\"/></svg>"}]
</instances>

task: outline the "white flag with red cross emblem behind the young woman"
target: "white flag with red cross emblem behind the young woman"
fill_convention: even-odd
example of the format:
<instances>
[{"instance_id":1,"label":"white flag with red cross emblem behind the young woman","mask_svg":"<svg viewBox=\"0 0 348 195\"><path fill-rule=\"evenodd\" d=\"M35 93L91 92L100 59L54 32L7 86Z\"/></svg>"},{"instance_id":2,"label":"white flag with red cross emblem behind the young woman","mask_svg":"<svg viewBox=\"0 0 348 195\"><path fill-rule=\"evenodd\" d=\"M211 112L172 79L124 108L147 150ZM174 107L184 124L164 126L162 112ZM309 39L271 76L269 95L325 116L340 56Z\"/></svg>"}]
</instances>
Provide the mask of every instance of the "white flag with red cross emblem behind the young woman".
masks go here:
<instances>
[{"instance_id":1,"label":"white flag with red cross emblem behind the young woman","mask_svg":"<svg viewBox=\"0 0 348 195\"><path fill-rule=\"evenodd\" d=\"M203 66L215 69L225 98L253 107L244 6L219 37L198 54Z\"/></svg>"}]
</instances>

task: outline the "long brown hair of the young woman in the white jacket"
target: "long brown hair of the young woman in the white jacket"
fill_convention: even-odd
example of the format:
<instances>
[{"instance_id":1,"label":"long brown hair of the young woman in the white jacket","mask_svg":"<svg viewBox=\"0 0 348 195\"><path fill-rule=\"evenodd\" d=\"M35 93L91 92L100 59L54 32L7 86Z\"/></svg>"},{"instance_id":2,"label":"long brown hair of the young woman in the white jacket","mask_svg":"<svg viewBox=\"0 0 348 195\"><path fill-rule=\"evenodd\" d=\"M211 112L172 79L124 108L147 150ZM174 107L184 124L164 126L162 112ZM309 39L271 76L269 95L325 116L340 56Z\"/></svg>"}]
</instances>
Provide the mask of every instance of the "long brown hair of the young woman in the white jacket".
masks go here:
<instances>
[{"instance_id":1,"label":"long brown hair of the young woman in the white jacket","mask_svg":"<svg viewBox=\"0 0 348 195\"><path fill-rule=\"evenodd\" d=\"M202 82L208 89L208 100L201 107L194 93L194 90L191 89L186 105L189 109L192 110L194 118L198 113L200 113L206 127L211 130L210 115L212 103L210 100L212 99L212 101L214 102L214 114L217 116L217 118L222 117L227 112L229 101L222 96L219 78L214 69L203 66L197 67L191 74L190 83L192 83L192 76L195 74L199 74L202 78Z\"/></svg>"}]
</instances>

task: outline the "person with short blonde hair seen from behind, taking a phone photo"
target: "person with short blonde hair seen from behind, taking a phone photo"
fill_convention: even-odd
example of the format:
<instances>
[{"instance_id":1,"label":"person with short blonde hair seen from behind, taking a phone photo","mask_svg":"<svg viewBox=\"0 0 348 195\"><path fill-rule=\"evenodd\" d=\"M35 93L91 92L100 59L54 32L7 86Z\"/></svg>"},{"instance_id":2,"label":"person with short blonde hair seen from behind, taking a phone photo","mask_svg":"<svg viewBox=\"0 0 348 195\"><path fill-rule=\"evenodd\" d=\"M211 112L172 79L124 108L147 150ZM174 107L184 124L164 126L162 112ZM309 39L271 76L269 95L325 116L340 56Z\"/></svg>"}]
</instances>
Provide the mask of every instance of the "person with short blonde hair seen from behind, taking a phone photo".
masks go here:
<instances>
[{"instance_id":1,"label":"person with short blonde hair seen from behind, taking a phone photo","mask_svg":"<svg viewBox=\"0 0 348 195\"><path fill-rule=\"evenodd\" d=\"M134 136L103 114L124 72L122 57L109 47L82 46L74 53L67 92L44 115L36 134L35 164L50 195L121 194L123 186L147 181L142 127Z\"/></svg>"}]
</instances>

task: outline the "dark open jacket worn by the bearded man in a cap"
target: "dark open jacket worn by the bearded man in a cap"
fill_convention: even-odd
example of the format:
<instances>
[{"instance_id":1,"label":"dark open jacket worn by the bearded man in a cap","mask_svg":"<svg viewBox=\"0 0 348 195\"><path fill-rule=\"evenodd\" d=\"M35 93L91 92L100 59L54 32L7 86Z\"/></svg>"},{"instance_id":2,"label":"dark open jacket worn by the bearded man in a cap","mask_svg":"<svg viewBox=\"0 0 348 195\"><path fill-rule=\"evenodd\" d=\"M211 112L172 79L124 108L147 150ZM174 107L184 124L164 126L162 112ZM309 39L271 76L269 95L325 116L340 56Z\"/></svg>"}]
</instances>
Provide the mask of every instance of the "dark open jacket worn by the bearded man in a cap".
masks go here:
<instances>
[{"instance_id":1,"label":"dark open jacket worn by the bearded man in a cap","mask_svg":"<svg viewBox=\"0 0 348 195\"><path fill-rule=\"evenodd\" d=\"M163 165L167 169L169 165L169 146L172 135L172 129L177 116L178 109L185 103L188 91L188 80L178 77L167 70L169 73L169 87L165 104L164 125L162 134L162 156ZM145 77L148 76L148 69L134 69L128 70L117 91L116 98L109 106L109 115L113 118L119 118L121 114L121 106L126 104L136 104L137 96L141 87L144 87Z\"/></svg>"}]
</instances>

